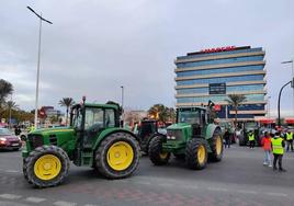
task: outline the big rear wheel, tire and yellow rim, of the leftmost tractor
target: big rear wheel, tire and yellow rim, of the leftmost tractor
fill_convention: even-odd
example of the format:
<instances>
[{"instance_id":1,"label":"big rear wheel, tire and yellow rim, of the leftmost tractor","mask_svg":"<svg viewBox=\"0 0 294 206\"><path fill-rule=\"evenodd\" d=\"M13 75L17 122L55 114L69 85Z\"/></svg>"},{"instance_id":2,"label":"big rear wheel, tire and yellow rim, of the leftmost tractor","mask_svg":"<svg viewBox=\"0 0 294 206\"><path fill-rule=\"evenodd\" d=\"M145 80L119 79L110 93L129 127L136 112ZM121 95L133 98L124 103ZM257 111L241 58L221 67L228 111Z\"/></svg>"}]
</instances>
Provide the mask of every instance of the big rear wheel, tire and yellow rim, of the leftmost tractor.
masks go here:
<instances>
[{"instance_id":1,"label":"big rear wheel, tire and yellow rim, of the leftmost tractor","mask_svg":"<svg viewBox=\"0 0 294 206\"><path fill-rule=\"evenodd\" d=\"M129 176L140 159L138 141L128 133L108 136L95 152L95 168L106 179Z\"/></svg>"}]
</instances>

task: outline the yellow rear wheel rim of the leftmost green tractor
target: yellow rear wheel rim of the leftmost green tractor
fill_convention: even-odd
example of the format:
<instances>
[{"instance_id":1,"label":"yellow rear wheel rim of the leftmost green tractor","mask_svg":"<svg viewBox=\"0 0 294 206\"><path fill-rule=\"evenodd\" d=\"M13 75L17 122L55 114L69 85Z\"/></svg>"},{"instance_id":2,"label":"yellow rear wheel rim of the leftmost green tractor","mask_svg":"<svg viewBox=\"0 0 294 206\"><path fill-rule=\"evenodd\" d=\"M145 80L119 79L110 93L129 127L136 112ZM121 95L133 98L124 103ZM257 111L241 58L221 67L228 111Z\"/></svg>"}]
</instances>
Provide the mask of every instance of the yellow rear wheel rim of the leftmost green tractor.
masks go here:
<instances>
[{"instance_id":1,"label":"yellow rear wheel rim of the leftmost green tractor","mask_svg":"<svg viewBox=\"0 0 294 206\"><path fill-rule=\"evenodd\" d=\"M134 150L125 141L117 141L108 151L108 163L115 171L126 170L134 160Z\"/></svg>"}]
</instances>

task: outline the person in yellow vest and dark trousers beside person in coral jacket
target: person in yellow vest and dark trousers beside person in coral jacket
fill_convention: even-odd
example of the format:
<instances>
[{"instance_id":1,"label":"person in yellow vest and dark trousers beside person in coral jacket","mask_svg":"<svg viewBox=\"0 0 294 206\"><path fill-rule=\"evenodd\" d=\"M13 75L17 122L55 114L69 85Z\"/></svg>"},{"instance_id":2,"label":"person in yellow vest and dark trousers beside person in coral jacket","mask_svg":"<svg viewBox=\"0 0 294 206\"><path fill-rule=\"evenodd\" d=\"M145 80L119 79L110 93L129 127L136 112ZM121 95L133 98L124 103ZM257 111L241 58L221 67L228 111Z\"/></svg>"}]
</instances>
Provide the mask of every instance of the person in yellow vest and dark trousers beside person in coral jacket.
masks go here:
<instances>
[{"instance_id":1,"label":"person in yellow vest and dark trousers beside person in coral jacket","mask_svg":"<svg viewBox=\"0 0 294 206\"><path fill-rule=\"evenodd\" d=\"M286 170L282 167L282 159L284 154L285 142L281 137L281 134L275 133L274 137L271 138L272 153L273 153L273 170L276 170L276 161L279 164L279 171L285 172Z\"/></svg>"}]
</instances>

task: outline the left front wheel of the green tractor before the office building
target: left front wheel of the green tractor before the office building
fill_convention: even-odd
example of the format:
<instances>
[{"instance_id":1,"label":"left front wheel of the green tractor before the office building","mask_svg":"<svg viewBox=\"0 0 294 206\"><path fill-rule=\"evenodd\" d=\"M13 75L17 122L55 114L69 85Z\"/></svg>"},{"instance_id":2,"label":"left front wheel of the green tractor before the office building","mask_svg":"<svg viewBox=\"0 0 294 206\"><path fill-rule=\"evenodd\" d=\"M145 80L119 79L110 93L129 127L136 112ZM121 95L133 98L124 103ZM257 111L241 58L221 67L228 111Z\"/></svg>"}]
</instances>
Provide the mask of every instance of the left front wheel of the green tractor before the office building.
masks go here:
<instances>
[{"instance_id":1,"label":"left front wheel of the green tractor before the office building","mask_svg":"<svg viewBox=\"0 0 294 206\"><path fill-rule=\"evenodd\" d=\"M149 144L149 159L155 165L163 165L169 162L170 152L162 151L162 144L165 141L165 136L156 136L150 140Z\"/></svg>"}]
</instances>

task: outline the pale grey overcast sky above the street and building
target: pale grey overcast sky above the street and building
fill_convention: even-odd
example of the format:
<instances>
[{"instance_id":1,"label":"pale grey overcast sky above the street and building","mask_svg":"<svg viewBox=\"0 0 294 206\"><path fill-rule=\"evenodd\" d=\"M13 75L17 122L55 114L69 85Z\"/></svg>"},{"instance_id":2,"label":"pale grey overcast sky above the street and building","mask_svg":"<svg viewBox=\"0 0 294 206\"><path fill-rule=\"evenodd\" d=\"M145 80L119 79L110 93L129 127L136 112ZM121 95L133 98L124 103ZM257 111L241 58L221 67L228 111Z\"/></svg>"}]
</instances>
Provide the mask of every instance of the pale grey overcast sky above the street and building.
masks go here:
<instances>
[{"instance_id":1,"label":"pale grey overcast sky above the street and building","mask_svg":"<svg viewBox=\"0 0 294 206\"><path fill-rule=\"evenodd\" d=\"M124 85L127 107L174 106L176 57L230 45L265 50L272 113L291 80L281 61L294 58L293 0L1 0L0 79L24 110L34 108L38 41L26 5L53 22L43 24L39 105L82 95L121 102ZM282 101L293 113L290 87Z\"/></svg>"}]
</instances>

